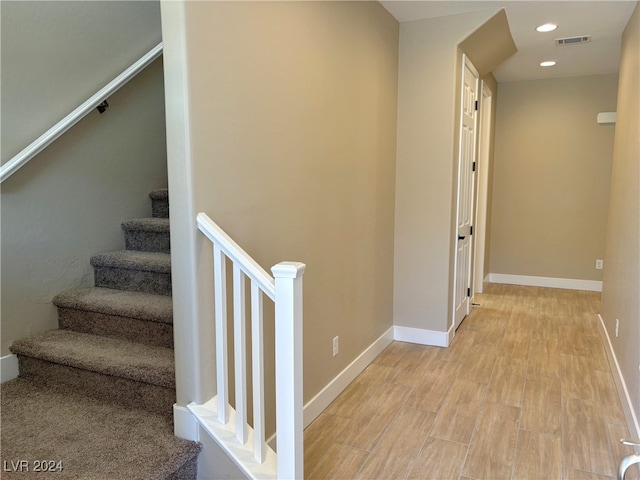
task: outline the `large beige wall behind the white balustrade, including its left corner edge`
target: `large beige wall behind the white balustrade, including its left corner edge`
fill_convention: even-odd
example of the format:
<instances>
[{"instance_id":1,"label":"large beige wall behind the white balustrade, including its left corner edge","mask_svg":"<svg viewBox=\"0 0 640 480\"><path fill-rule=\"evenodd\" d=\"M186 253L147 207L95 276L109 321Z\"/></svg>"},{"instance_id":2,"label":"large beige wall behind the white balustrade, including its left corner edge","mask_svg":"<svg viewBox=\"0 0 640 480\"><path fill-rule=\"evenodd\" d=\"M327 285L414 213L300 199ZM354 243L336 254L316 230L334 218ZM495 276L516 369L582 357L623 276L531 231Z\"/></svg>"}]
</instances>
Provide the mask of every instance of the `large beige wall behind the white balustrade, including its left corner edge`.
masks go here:
<instances>
[{"instance_id":1,"label":"large beige wall behind the white balustrade, including its left corner edge","mask_svg":"<svg viewBox=\"0 0 640 480\"><path fill-rule=\"evenodd\" d=\"M392 326L398 23L377 2L183 7L162 7L176 318L210 315L199 211L267 269L305 262L309 400ZM197 342L177 332L181 403L207 394Z\"/></svg>"}]
</instances>

